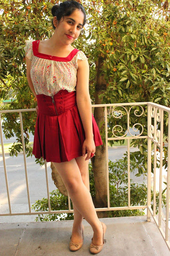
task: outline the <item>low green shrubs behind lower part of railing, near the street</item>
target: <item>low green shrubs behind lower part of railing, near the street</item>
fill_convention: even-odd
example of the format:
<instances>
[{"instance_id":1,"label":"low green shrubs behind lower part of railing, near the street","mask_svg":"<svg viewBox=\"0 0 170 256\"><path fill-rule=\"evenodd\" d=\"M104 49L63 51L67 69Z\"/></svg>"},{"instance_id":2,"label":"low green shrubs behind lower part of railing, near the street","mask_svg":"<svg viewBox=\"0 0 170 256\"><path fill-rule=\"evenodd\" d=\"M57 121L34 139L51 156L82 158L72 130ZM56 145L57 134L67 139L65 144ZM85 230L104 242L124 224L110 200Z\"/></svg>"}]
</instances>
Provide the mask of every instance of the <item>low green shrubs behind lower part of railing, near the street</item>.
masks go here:
<instances>
[{"instance_id":1,"label":"low green shrubs behind lower part of railing, near the street","mask_svg":"<svg viewBox=\"0 0 170 256\"><path fill-rule=\"evenodd\" d=\"M135 162L132 163L134 167ZM131 172L134 172L134 168L131 168ZM92 198L95 197L95 185L94 185L94 175L92 172L92 165L89 164L89 179L90 179L90 193ZM110 194L110 207L123 207L128 206L128 184L127 179L127 158L117 160L116 162L111 162L109 160L109 194ZM133 180L130 183L130 194L131 194L131 206L147 205L147 185L135 184ZM166 206L166 196L164 194L165 190L162 192L162 207ZM50 192L50 203L51 210L68 210L68 197L63 196L59 190L53 190ZM151 201L153 201L153 189L151 189ZM70 201L71 202L71 201ZM159 205L159 193L156 192L156 214L158 213ZM151 204L153 210L153 204ZM72 202L71 202L72 208ZM32 209L36 211L47 211L48 199L43 198L37 200L33 204ZM122 216L138 216L145 215L143 210L115 210L109 211L108 217L122 217ZM38 214L35 218L36 221L51 221L51 220L72 220L73 214Z\"/></svg>"}]
</instances>

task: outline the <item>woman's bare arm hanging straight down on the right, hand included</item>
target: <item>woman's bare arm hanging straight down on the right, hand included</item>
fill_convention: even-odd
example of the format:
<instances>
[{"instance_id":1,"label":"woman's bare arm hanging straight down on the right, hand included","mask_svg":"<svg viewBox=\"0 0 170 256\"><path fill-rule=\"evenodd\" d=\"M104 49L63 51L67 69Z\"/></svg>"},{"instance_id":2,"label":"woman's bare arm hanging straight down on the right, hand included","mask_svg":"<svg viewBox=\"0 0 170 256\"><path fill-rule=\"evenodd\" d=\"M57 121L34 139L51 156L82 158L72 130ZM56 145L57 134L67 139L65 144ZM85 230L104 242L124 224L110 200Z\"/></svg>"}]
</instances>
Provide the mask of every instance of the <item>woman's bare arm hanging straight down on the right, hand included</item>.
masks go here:
<instances>
[{"instance_id":1,"label":"woman's bare arm hanging straight down on the right, hand included","mask_svg":"<svg viewBox=\"0 0 170 256\"><path fill-rule=\"evenodd\" d=\"M96 151L92 129L92 104L89 95L89 65L88 60L78 60L76 101L82 120L86 139L83 144L83 156L90 159L90 154Z\"/></svg>"}]
</instances>

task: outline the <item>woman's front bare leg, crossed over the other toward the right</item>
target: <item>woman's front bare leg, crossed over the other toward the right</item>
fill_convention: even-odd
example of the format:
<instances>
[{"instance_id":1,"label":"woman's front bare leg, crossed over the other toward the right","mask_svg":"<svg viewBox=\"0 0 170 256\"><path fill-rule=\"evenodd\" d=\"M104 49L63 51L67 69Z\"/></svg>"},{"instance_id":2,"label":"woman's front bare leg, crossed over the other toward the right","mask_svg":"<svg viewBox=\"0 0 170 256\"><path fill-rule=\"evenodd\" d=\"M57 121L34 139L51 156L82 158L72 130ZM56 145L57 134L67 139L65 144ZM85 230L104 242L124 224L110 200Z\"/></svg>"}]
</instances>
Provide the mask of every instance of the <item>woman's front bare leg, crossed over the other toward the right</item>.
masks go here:
<instances>
[{"instance_id":1,"label":"woman's front bare leg, crossed over the other toward the right","mask_svg":"<svg viewBox=\"0 0 170 256\"><path fill-rule=\"evenodd\" d=\"M82 160L84 161L84 158ZM85 220L92 226L94 235L93 243L96 245L103 244L103 228L90 195L89 189L84 185L80 169L75 159L69 162L55 163L63 182L68 190L68 194L76 206L78 212L84 216Z\"/></svg>"}]
</instances>

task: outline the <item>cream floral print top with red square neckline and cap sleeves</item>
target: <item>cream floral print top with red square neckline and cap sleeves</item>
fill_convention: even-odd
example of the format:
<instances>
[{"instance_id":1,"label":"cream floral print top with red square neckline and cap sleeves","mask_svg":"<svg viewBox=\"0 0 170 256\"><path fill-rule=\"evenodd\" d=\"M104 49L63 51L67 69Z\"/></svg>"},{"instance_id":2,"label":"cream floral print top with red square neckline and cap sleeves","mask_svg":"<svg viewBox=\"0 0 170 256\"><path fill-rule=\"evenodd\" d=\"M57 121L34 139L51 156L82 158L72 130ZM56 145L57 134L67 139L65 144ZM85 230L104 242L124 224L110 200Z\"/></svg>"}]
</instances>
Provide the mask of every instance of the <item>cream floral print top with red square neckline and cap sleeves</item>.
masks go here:
<instances>
[{"instance_id":1,"label":"cream floral print top with red square neckline and cap sleeves","mask_svg":"<svg viewBox=\"0 0 170 256\"><path fill-rule=\"evenodd\" d=\"M78 60L86 55L78 49L66 57L57 57L38 52L39 40L27 40L24 50L31 60L31 80L36 94L54 96L60 90L76 91Z\"/></svg>"}]
</instances>

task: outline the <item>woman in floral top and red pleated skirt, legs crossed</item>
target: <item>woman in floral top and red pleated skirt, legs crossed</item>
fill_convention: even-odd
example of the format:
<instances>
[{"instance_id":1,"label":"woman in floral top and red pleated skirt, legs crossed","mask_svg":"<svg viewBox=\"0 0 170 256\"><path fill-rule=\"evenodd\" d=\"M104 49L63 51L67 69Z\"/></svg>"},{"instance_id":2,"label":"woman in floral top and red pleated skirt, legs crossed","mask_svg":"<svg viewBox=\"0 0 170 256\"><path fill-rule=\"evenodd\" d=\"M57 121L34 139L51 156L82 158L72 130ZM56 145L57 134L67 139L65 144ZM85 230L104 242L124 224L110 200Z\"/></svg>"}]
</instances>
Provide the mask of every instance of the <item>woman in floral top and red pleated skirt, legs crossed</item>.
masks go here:
<instances>
[{"instance_id":1,"label":"woman in floral top and red pleated skirt, legs crossed","mask_svg":"<svg viewBox=\"0 0 170 256\"><path fill-rule=\"evenodd\" d=\"M89 192L88 161L102 140L92 115L88 60L71 45L86 22L86 12L71 0L53 6L52 14L53 36L25 46L27 80L38 103L33 154L53 162L72 200L70 250L82 247L84 217L94 231L90 252L97 254L106 225L98 219Z\"/></svg>"}]
</instances>

